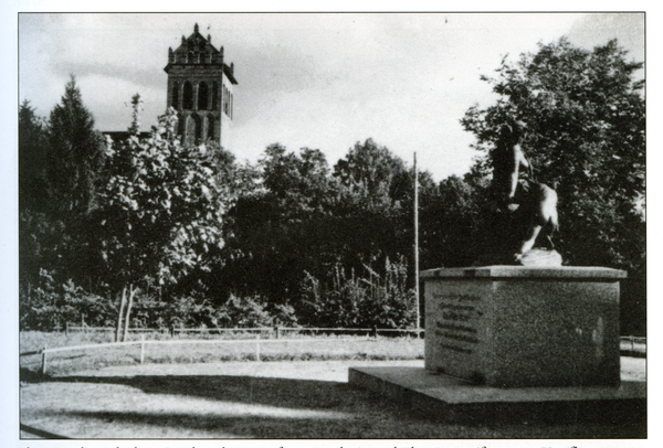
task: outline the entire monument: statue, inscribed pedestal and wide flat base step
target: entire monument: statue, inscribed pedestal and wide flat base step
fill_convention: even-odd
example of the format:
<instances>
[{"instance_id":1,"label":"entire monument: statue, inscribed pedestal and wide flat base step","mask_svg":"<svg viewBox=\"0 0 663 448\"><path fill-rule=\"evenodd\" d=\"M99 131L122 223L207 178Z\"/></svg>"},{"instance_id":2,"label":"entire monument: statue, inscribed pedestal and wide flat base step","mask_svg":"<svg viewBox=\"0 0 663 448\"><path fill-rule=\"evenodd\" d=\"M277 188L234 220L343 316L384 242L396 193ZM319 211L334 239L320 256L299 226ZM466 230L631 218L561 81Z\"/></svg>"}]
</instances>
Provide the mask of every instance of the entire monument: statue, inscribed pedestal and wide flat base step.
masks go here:
<instances>
[{"instance_id":1,"label":"entire monument: statue, inscribed pedestal and wide flat base step","mask_svg":"<svg viewBox=\"0 0 663 448\"><path fill-rule=\"evenodd\" d=\"M645 383L621 382L627 273L562 266L552 243L557 194L534 179L520 148L526 129L505 124L492 152L484 255L472 267L421 273L424 369L350 369L350 383L448 415L560 405L642 415Z\"/></svg>"}]
</instances>

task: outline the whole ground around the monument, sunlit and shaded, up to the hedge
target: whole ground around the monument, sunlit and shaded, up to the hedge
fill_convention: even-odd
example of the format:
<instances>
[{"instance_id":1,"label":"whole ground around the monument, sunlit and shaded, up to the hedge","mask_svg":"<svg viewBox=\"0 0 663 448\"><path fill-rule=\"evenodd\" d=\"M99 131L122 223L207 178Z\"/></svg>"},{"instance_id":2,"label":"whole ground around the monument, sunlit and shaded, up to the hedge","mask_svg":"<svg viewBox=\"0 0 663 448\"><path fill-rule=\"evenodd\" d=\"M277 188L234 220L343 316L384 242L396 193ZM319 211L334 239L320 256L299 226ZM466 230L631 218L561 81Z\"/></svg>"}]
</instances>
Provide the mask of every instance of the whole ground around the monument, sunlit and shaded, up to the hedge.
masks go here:
<instances>
[{"instance_id":1,"label":"whole ground around the monument, sunlit and shaded, up to the hedge","mask_svg":"<svg viewBox=\"0 0 663 448\"><path fill-rule=\"evenodd\" d=\"M29 337L34 340L35 335ZM53 360L46 376L36 372L39 360L28 360L39 356L27 356L21 361L21 423L84 439L646 437L645 422L443 424L347 383L349 366L423 366L422 340L380 338L346 343L330 338L319 345L292 344L267 362L222 362L218 358L225 355L210 344L198 351L190 345L160 346L182 350L166 361L166 353L155 345L144 365L137 364L136 353L127 354L127 348L120 348L125 353L65 352L60 364ZM320 358L332 358L332 352L336 359ZM387 354L401 358L376 361ZM407 354L410 359L402 360ZM622 371L629 375L638 377L644 372L643 359L624 360L629 361L622 363Z\"/></svg>"}]
</instances>

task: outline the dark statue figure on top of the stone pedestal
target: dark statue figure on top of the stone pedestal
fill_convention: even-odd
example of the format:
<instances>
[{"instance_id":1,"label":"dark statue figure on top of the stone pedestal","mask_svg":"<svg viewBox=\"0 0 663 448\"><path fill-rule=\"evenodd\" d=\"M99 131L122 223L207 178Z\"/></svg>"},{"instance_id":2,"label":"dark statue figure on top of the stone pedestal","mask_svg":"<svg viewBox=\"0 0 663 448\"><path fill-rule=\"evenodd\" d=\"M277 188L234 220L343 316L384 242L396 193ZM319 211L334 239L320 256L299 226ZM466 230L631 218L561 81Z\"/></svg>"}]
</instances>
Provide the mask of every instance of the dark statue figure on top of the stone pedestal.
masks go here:
<instances>
[{"instance_id":1,"label":"dark statue figure on top of the stone pedestal","mask_svg":"<svg viewBox=\"0 0 663 448\"><path fill-rule=\"evenodd\" d=\"M536 182L532 163L520 147L527 126L513 120L502 127L492 156L492 235L491 256L499 264L561 265L554 250L551 235L558 228L557 193ZM549 252L532 250L546 228ZM534 259L536 258L536 259Z\"/></svg>"}]
</instances>

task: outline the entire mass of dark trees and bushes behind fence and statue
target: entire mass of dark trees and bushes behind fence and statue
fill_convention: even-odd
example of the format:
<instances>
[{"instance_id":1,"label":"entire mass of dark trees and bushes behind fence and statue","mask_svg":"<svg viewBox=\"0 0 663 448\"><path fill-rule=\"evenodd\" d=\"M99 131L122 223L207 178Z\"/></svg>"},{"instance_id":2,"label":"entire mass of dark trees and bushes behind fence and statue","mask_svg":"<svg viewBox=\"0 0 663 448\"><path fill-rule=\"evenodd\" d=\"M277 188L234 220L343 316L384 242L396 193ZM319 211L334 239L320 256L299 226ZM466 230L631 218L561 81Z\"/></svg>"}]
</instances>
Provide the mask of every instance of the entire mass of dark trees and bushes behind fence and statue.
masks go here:
<instances>
[{"instance_id":1,"label":"entire mass of dark trees and bushes behind fence and statue","mask_svg":"<svg viewBox=\"0 0 663 448\"><path fill-rule=\"evenodd\" d=\"M627 269L622 329L643 333L640 67L615 42L585 51L562 39L484 77L499 98L462 119L476 136L475 166L439 183L419 173L420 268L482 255L487 156L499 127L524 119L535 175L559 194L557 248L571 265ZM137 298L133 327L413 326L408 163L368 139L334 166L318 149L278 143L257 166L239 164L213 142L182 146L172 110L140 139L139 106L135 97L131 136L106 147L74 78L49 120L21 105L22 328L84 308L113 320L123 289Z\"/></svg>"}]
</instances>

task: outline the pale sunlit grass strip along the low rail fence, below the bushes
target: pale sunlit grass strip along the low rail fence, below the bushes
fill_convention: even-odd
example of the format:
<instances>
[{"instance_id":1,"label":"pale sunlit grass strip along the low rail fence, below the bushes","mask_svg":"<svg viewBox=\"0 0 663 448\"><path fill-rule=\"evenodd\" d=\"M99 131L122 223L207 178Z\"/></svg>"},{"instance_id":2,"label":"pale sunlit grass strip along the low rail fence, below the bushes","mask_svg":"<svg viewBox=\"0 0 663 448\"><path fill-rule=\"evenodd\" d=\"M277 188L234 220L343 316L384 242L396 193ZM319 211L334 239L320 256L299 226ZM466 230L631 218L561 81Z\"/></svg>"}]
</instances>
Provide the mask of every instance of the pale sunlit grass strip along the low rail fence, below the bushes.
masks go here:
<instances>
[{"instance_id":1,"label":"pale sunlit grass strip along the low rail fence, below the bushes","mask_svg":"<svg viewBox=\"0 0 663 448\"><path fill-rule=\"evenodd\" d=\"M242 342L228 343L218 335L150 334L154 343L145 344L146 364L198 364L229 361L327 361L327 360L423 360L423 340L417 338L368 338L351 335L326 335L312 338L288 335L278 340L264 340L256 346L255 335L245 335ZM140 337L133 335L133 340ZM214 342L218 341L219 343ZM81 370L103 369L110 365L136 365L140 363L140 345L104 346L112 342L108 333L43 333L22 332L21 353L34 352L44 346L98 345L98 348L71 350L48 354L48 373L62 375ZM21 358L24 374L41 371L39 354Z\"/></svg>"}]
</instances>

